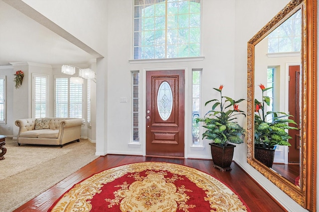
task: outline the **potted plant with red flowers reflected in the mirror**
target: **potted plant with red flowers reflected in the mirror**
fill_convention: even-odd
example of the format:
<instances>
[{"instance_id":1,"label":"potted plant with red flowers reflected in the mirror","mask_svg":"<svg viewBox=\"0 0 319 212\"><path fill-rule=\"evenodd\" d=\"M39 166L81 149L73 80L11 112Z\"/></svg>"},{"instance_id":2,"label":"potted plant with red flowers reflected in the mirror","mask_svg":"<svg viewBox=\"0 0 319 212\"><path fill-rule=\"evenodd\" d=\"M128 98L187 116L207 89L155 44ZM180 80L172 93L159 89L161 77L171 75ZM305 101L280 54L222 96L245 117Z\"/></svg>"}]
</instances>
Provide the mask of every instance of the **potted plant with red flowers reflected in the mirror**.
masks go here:
<instances>
[{"instance_id":1,"label":"potted plant with red flowers reflected in the mirror","mask_svg":"<svg viewBox=\"0 0 319 212\"><path fill-rule=\"evenodd\" d=\"M275 157L276 145L291 146L288 139L291 137L288 130L298 130L289 124L297 125L289 119L291 115L283 112L265 111L265 104L270 105L270 97L264 92L272 89L259 84L262 90L262 102L255 99L255 158L268 167L272 167Z\"/></svg>"}]
</instances>

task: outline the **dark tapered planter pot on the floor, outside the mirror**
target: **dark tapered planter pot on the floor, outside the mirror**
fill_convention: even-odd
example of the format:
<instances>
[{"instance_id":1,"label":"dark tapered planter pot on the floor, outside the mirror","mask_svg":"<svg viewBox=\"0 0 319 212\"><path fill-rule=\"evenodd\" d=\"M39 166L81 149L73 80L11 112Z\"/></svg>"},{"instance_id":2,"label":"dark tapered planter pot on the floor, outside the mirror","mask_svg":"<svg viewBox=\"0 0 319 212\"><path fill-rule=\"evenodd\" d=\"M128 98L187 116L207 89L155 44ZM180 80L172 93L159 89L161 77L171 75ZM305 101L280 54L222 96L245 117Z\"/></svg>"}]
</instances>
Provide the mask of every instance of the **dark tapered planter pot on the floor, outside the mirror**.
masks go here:
<instances>
[{"instance_id":1,"label":"dark tapered planter pot on the floor, outside the mirror","mask_svg":"<svg viewBox=\"0 0 319 212\"><path fill-rule=\"evenodd\" d=\"M231 170L230 164L233 161L234 148L236 145L228 143L226 146L220 146L215 143L209 143L211 156L214 162L214 167L220 171Z\"/></svg>"}]
</instances>

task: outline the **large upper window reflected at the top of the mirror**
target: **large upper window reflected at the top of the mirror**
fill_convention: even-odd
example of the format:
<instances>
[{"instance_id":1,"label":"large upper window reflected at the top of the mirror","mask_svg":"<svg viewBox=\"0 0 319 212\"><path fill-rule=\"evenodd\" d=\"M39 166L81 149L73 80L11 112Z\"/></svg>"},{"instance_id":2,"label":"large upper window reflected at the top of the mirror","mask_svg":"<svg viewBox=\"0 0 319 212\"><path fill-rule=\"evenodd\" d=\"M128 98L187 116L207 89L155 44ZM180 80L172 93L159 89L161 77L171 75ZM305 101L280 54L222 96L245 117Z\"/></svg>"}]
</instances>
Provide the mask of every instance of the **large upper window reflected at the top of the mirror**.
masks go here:
<instances>
[{"instance_id":1,"label":"large upper window reflected at the top of the mirror","mask_svg":"<svg viewBox=\"0 0 319 212\"><path fill-rule=\"evenodd\" d=\"M268 53L300 52L301 10L268 35Z\"/></svg>"}]
</instances>

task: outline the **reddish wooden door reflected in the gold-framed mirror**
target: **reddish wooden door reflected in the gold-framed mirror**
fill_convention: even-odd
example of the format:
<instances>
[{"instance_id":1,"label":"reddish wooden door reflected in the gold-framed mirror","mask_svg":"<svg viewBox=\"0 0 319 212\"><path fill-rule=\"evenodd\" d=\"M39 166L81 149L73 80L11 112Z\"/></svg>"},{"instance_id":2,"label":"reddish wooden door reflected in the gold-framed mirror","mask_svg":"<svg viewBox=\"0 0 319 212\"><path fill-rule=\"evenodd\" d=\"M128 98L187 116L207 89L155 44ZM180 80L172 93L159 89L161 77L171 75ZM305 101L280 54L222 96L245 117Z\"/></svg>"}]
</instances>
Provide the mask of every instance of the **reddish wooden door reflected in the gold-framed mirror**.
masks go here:
<instances>
[{"instance_id":1,"label":"reddish wooden door reflected in the gold-framed mirror","mask_svg":"<svg viewBox=\"0 0 319 212\"><path fill-rule=\"evenodd\" d=\"M300 127L300 66L290 66L289 67L289 114L293 117L290 119L294 120L298 126L290 125L292 127ZM300 130L289 130L289 153L288 162L289 163L299 163L300 160Z\"/></svg>"}]
</instances>

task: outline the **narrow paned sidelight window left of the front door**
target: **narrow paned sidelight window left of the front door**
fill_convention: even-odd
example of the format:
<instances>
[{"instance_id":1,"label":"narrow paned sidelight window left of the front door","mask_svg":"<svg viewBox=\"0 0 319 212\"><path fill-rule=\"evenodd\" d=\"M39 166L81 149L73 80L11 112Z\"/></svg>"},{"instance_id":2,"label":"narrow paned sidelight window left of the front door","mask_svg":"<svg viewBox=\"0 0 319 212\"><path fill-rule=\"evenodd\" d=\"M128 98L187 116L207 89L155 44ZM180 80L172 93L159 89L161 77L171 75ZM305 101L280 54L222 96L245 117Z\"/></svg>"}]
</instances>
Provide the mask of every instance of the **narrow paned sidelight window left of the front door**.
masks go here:
<instances>
[{"instance_id":1,"label":"narrow paned sidelight window left of the front door","mask_svg":"<svg viewBox=\"0 0 319 212\"><path fill-rule=\"evenodd\" d=\"M140 96L139 96L139 72L132 71L132 120L133 120L133 142L140 141Z\"/></svg>"}]
</instances>

